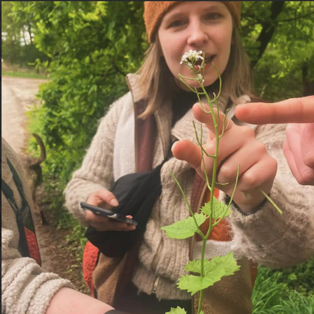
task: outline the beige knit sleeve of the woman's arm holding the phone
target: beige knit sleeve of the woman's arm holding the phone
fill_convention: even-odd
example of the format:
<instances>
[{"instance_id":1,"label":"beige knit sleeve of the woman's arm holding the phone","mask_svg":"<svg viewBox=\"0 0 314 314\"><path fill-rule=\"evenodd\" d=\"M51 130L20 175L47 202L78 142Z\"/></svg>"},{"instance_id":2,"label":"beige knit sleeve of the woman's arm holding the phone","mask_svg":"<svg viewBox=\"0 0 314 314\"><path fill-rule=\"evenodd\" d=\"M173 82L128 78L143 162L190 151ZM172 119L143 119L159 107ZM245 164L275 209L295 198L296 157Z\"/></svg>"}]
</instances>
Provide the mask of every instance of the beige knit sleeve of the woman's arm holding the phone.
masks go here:
<instances>
[{"instance_id":1,"label":"beige knit sleeve of the woman's arm holding the phone","mask_svg":"<svg viewBox=\"0 0 314 314\"><path fill-rule=\"evenodd\" d=\"M108 113L100 120L97 132L87 150L80 169L73 173L65 193L65 205L84 225L85 213L79 203L99 189L110 189L113 183L113 150L116 127L123 105L130 103L130 93L111 105Z\"/></svg>"}]
</instances>

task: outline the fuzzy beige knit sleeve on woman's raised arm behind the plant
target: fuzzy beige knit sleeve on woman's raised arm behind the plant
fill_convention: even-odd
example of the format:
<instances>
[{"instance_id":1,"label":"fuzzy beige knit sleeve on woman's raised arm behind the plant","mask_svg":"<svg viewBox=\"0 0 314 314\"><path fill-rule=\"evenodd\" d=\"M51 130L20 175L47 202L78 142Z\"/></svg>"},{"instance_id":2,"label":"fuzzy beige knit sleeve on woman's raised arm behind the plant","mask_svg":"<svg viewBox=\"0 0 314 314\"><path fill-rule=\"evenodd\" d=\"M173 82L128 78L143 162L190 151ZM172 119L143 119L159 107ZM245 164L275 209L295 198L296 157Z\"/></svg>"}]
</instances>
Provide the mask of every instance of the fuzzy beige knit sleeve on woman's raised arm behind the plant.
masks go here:
<instances>
[{"instance_id":1,"label":"fuzzy beige knit sleeve on woman's raised arm behind the plant","mask_svg":"<svg viewBox=\"0 0 314 314\"><path fill-rule=\"evenodd\" d=\"M233 237L241 252L260 264L296 265L314 254L314 187L301 186L290 171L282 149L285 125L259 126L256 138L278 162L270 197L283 213L268 201L248 216L232 206ZM223 193L220 199L225 199Z\"/></svg>"}]
</instances>

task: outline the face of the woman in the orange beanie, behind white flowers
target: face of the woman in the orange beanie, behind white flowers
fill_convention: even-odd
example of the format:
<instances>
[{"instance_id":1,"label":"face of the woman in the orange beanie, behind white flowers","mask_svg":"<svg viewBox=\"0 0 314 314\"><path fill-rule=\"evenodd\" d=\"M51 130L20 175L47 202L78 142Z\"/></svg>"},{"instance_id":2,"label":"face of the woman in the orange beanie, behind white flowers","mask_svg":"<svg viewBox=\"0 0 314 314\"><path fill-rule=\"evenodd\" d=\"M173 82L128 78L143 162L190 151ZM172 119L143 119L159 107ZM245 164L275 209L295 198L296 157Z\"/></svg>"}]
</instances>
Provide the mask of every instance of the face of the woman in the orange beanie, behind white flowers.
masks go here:
<instances>
[{"instance_id":1,"label":"face of the woman in the orange beanie, behind white flowers","mask_svg":"<svg viewBox=\"0 0 314 314\"><path fill-rule=\"evenodd\" d=\"M163 17L158 29L161 50L171 73L178 78L193 77L186 65L180 64L185 52L202 50L205 53L204 86L213 84L227 66L232 38L232 17L228 8L219 1L187 1L172 8ZM199 87L197 81L188 81ZM185 87L180 82L181 87Z\"/></svg>"}]
</instances>

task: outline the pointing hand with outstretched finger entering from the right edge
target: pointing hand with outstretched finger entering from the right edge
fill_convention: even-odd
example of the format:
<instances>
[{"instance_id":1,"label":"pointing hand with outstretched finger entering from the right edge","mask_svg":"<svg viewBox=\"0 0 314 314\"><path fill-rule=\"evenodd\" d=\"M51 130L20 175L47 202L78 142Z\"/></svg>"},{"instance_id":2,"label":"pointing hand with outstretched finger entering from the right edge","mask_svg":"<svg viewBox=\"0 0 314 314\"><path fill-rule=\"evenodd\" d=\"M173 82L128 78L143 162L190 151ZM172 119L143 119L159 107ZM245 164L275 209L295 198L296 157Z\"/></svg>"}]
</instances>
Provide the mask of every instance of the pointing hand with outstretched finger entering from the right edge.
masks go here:
<instances>
[{"instance_id":1,"label":"pointing hand with outstretched finger entering from the right edge","mask_svg":"<svg viewBox=\"0 0 314 314\"><path fill-rule=\"evenodd\" d=\"M283 144L288 165L300 184L314 185L314 96L241 104L235 114L252 124L290 123Z\"/></svg>"}]
</instances>

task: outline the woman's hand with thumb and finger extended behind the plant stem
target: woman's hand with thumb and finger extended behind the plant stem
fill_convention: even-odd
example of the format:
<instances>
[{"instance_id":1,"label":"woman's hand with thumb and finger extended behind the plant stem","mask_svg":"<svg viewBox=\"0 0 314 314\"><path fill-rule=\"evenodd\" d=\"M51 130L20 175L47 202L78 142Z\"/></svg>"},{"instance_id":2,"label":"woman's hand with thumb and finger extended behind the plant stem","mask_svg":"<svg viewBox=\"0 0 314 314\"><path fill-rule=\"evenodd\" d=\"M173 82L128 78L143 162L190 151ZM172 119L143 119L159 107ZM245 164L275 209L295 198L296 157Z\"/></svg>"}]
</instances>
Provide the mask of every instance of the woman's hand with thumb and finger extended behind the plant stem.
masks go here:
<instances>
[{"instance_id":1,"label":"woman's hand with thumb and finger extended behind the plant stem","mask_svg":"<svg viewBox=\"0 0 314 314\"><path fill-rule=\"evenodd\" d=\"M207 108L207 110L209 109ZM217 121L217 110L214 110ZM221 132L225 115L222 112L219 113L218 129ZM204 123L208 128L208 138L203 148L207 154L214 155L216 136L211 114L203 112L199 104L193 106L193 114L198 121ZM237 126L231 120L226 121L225 124L224 135L219 141L216 182L228 182L228 184L216 184L216 187L231 196L240 165L239 180L233 200L242 211L250 212L264 200L259 189L267 194L270 192L277 172L277 161L269 156L266 147L256 140L251 128ZM174 143L172 153L177 159L186 160L205 180L201 148L198 145L188 140L181 140ZM211 185L214 158L204 154L204 160Z\"/></svg>"}]
</instances>

